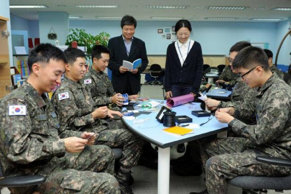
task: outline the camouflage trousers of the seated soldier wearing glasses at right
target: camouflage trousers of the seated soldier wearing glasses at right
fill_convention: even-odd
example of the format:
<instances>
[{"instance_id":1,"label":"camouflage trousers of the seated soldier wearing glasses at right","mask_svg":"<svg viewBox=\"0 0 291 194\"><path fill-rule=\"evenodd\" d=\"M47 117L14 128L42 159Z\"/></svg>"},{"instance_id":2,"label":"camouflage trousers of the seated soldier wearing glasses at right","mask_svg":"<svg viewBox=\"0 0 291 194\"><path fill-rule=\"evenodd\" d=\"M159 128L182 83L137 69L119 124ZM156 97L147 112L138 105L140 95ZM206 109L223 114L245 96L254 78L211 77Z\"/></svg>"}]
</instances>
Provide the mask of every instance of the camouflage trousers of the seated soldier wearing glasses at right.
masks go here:
<instances>
[{"instance_id":1,"label":"camouflage trousers of the seated soldier wearing glasses at right","mask_svg":"<svg viewBox=\"0 0 291 194\"><path fill-rule=\"evenodd\" d=\"M286 167L258 162L256 156L265 154L248 149L248 145L248 139L233 137L201 142L201 159L209 194L227 194L227 180L240 175L272 177L290 173Z\"/></svg>"}]
</instances>

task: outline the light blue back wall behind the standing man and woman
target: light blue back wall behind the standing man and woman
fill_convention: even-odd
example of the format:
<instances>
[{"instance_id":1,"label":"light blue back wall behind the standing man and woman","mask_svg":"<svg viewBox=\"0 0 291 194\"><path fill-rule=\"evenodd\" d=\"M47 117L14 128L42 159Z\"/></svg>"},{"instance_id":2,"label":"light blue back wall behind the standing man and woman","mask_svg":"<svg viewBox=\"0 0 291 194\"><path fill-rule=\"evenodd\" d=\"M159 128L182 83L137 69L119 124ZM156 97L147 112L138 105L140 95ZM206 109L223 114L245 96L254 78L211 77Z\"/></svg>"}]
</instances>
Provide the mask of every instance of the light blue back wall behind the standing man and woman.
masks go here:
<instances>
[{"instance_id":1,"label":"light blue back wall behind the standing man and woman","mask_svg":"<svg viewBox=\"0 0 291 194\"><path fill-rule=\"evenodd\" d=\"M158 29L172 27L175 21L138 21L135 36L146 42L149 55L165 55L167 46L172 40L162 39ZM32 25L32 23L30 23ZM268 48L274 55L289 23L268 22L191 22L193 28L192 39L202 46L203 55L228 55L230 47L238 41L247 40L252 43L268 43ZM37 22L34 24L37 25ZM108 32L111 37L121 35L119 21L70 20L70 28L82 28L86 32L96 35ZM36 27L34 28L36 29ZM31 29L30 29L31 31ZM31 32L30 32L31 33ZM278 58L278 64L290 64L291 38L287 38ZM274 60L275 62L275 60Z\"/></svg>"}]
</instances>

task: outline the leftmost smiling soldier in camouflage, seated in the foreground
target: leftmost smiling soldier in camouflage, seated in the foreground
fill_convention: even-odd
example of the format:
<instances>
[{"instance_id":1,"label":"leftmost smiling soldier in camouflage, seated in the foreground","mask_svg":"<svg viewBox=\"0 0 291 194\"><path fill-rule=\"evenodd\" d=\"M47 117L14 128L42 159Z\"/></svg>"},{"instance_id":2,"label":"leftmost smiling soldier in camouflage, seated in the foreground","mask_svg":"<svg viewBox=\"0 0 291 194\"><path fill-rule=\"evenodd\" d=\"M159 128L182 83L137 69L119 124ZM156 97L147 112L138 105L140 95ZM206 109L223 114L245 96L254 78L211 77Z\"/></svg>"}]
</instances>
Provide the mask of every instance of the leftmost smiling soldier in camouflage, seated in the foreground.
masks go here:
<instances>
[{"instance_id":1,"label":"leftmost smiling soldier in camouflage, seated in the foreground","mask_svg":"<svg viewBox=\"0 0 291 194\"><path fill-rule=\"evenodd\" d=\"M39 187L9 188L14 194L120 194L112 176L114 154L110 147L90 146L96 138L90 138L92 132L60 125L44 95L61 82L65 61L62 50L50 44L38 45L28 58L28 80L1 100L3 175L46 177Z\"/></svg>"}]
</instances>

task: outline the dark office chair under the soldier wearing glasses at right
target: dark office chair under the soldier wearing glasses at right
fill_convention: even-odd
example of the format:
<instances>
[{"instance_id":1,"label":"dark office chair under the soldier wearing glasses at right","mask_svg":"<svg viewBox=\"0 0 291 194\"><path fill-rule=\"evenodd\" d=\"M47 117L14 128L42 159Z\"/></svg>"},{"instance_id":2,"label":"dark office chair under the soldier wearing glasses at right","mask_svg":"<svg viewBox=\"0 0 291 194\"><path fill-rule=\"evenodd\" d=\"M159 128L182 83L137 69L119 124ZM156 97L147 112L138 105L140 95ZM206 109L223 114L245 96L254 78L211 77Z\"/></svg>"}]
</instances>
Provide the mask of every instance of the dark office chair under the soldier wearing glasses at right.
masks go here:
<instances>
[{"instance_id":1,"label":"dark office chair under the soldier wearing glasses at right","mask_svg":"<svg viewBox=\"0 0 291 194\"><path fill-rule=\"evenodd\" d=\"M256 160L272 165L291 168L290 159L257 156ZM238 176L229 180L228 183L233 186L243 188L242 194L267 193L266 189L283 193L283 190L291 190L291 175L289 174L286 177Z\"/></svg>"}]
</instances>

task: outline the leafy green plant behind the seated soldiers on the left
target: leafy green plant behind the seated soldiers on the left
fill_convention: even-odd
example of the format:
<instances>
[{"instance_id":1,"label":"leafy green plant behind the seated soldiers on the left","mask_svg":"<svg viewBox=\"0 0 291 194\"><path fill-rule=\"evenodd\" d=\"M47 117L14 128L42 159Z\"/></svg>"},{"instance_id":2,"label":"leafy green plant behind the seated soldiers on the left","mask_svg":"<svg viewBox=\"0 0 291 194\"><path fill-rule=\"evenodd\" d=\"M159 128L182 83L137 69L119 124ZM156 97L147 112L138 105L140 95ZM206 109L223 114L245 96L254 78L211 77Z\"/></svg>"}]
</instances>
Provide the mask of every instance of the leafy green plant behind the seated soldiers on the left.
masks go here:
<instances>
[{"instance_id":1,"label":"leafy green plant behind the seated soldiers on the left","mask_svg":"<svg viewBox=\"0 0 291 194\"><path fill-rule=\"evenodd\" d=\"M77 41L78 46L86 47L87 54L91 54L91 51L96 44L101 44L106 47L108 44L109 37L110 35L107 32L101 32L94 36L90 33L86 33L84 29L70 28L69 35L67 35L65 45L71 47L72 41Z\"/></svg>"}]
</instances>

